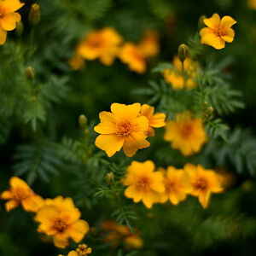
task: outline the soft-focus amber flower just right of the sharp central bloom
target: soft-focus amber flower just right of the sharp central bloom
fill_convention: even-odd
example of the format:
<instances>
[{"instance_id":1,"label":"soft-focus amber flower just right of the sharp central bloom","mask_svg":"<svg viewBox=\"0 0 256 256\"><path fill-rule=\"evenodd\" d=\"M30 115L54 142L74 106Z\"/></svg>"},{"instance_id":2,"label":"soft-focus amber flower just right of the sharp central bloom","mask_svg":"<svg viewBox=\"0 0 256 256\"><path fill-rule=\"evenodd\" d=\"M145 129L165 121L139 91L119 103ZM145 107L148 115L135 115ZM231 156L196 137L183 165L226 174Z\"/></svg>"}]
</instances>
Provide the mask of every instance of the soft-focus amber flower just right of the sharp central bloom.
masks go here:
<instances>
[{"instance_id":1,"label":"soft-focus amber flower just right of the sharp central bloom","mask_svg":"<svg viewBox=\"0 0 256 256\"><path fill-rule=\"evenodd\" d=\"M164 140L172 142L172 148L179 149L183 155L195 154L207 143L201 118L191 119L190 113L178 113L175 121L166 122Z\"/></svg>"}]
</instances>

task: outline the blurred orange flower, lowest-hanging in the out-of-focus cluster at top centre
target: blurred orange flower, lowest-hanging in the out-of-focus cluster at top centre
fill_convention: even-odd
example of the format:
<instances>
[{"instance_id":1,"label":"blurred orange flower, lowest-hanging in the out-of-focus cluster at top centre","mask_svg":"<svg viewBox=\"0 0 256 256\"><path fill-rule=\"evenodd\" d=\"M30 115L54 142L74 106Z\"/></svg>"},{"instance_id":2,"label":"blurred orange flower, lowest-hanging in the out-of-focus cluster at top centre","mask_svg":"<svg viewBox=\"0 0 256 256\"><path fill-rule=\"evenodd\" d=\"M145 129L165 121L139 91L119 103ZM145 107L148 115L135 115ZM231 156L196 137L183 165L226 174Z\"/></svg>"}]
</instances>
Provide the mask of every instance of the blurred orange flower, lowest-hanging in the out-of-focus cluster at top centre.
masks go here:
<instances>
[{"instance_id":1,"label":"blurred orange flower, lowest-hanging in the out-of-focus cluster at top centre","mask_svg":"<svg viewBox=\"0 0 256 256\"><path fill-rule=\"evenodd\" d=\"M147 56L144 54L143 50L133 43L126 43L119 53L120 60L128 64L128 67L137 73L145 73Z\"/></svg>"}]
</instances>

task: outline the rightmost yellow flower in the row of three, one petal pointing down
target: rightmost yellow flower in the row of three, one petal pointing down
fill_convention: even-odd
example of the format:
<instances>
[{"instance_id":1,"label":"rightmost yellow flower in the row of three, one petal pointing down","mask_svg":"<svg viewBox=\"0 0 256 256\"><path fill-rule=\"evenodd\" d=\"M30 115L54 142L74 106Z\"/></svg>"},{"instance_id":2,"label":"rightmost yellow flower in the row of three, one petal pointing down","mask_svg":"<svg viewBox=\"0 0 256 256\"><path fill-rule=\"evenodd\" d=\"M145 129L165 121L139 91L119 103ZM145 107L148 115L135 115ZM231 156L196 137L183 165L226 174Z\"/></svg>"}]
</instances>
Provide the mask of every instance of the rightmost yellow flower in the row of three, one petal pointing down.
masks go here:
<instances>
[{"instance_id":1,"label":"rightmost yellow flower in the row of three, one petal pointing down","mask_svg":"<svg viewBox=\"0 0 256 256\"><path fill-rule=\"evenodd\" d=\"M201 165L186 164L184 171L189 175L192 185L191 195L198 196L202 207L207 208L212 193L223 191L218 174L212 170L205 170Z\"/></svg>"}]
</instances>

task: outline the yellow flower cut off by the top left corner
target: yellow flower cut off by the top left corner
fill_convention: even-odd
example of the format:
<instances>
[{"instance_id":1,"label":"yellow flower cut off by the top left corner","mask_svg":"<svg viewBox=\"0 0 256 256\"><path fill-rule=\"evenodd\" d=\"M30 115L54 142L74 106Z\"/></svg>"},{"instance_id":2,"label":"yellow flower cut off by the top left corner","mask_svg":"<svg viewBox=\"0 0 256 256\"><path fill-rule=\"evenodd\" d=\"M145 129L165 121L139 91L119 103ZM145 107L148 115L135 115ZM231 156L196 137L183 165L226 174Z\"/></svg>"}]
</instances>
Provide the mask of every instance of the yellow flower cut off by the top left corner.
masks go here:
<instances>
[{"instance_id":1,"label":"yellow flower cut off by the top left corner","mask_svg":"<svg viewBox=\"0 0 256 256\"><path fill-rule=\"evenodd\" d=\"M14 30L16 23L20 22L20 14L15 11L24 4L19 0L0 0L0 44L5 43L7 32Z\"/></svg>"}]
</instances>

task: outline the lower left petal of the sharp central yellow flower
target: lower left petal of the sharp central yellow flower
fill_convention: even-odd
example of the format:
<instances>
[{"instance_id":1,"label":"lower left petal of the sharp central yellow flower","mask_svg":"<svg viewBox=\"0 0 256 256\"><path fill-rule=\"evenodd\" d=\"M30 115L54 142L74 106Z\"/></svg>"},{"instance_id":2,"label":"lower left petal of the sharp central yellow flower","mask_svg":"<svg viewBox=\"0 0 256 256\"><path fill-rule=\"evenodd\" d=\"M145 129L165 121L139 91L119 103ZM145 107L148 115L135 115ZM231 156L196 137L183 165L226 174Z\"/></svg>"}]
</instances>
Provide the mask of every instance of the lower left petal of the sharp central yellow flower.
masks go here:
<instances>
[{"instance_id":1,"label":"lower left petal of the sharp central yellow flower","mask_svg":"<svg viewBox=\"0 0 256 256\"><path fill-rule=\"evenodd\" d=\"M117 134L100 135L96 137L96 147L106 151L109 157L119 151L125 143L125 137Z\"/></svg>"}]
</instances>

